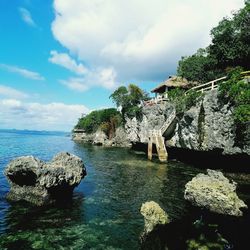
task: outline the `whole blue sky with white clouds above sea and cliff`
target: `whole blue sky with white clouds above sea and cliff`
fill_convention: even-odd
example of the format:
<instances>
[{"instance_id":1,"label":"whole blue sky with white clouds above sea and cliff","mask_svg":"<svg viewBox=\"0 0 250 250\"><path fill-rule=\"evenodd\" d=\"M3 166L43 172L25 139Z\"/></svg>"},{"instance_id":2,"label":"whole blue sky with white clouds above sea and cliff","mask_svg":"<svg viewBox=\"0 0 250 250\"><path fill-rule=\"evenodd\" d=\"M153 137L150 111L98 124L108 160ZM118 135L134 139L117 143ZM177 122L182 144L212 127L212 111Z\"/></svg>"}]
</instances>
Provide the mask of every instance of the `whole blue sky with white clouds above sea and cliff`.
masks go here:
<instances>
[{"instance_id":1,"label":"whole blue sky with white clouds above sea and cliff","mask_svg":"<svg viewBox=\"0 0 250 250\"><path fill-rule=\"evenodd\" d=\"M0 0L0 128L70 131L114 107L121 85L146 91L210 42L244 0Z\"/></svg>"}]
</instances>

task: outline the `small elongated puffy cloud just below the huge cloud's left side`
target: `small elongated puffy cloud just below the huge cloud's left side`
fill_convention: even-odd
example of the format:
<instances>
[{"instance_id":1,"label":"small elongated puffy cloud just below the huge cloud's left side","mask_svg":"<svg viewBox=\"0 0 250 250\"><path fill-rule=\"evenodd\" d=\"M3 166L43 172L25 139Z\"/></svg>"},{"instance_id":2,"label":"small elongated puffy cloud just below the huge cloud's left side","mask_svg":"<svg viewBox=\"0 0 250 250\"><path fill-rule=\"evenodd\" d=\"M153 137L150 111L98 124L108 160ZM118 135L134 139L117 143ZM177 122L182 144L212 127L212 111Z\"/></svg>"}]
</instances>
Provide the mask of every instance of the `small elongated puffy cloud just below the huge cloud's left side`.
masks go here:
<instances>
[{"instance_id":1,"label":"small elongated puffy cloud just below the huge cloud's left side","mask_svg":"<svg viewBox=\"0 0 250 250\"><path fill-rule=\"evenodd\" d=\"M49 58L49 61L51 63L60 65L72 72L74 72L77 75L84 75L87 72L87 69L84 67L83 64L79 63L77 64L74 59L72 59L68 54L66 53L58 53L55 50L52 50L50 52L51 57Z\"/></svg>"}]
</instances>

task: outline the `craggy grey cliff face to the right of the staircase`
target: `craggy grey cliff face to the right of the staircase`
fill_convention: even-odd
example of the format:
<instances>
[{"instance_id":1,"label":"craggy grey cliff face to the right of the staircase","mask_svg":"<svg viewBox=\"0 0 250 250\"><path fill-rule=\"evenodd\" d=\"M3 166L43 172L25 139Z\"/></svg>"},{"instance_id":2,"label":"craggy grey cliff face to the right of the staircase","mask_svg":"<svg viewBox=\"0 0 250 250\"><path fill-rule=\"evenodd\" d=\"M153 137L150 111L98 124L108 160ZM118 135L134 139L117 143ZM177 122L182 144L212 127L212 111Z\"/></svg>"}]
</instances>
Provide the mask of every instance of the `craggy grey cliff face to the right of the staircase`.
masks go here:
<instances>
[{"instance_id":1,"label":"craggy grey cliff face to the right of the staircase","mask_svg":"<svg viewBox=\"0 0 250 250\"><path fill-rule=\"evenodd\" d=\"M250 140L238 138L232 112L232 106L220 103L216 90L210 91L202 102L184 113L168 146L250 155ZM242 139L245 141L240 144Z\"/></svg>"}]
</instances>

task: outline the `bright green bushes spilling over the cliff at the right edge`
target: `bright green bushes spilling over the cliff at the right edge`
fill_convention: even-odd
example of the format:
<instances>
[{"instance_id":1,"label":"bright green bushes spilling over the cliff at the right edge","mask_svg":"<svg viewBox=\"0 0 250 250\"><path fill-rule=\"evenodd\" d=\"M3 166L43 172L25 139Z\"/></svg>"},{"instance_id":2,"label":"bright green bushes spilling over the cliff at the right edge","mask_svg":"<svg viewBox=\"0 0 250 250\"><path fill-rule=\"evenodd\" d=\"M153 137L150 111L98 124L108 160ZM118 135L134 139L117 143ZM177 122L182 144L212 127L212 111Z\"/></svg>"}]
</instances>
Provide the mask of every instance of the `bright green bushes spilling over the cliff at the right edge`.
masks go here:
<instances>
[{"instance_id":1,"label":"bright green bushes spilling over the cliff at the right edge","mask_svg":"<svg viewBox=\"0 0 250 250\"><path fill-rule=\"evenodd\" d=\"M241 72L241 67L231 70L228 80L219 86L219 97L235 107L233 117L237 124L250 121L250 84L242 79Z\"/></svg>"}]
</instances>

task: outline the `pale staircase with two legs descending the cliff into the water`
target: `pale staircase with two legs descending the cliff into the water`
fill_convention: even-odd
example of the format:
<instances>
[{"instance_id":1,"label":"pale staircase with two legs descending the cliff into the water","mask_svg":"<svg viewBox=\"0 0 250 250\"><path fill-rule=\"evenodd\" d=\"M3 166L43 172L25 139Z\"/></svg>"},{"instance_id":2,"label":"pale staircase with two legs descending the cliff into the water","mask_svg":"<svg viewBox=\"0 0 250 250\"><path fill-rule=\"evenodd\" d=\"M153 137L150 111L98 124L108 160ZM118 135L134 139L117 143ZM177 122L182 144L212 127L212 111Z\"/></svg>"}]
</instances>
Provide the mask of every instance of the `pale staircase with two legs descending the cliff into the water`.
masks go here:
<instances>
[{"instance_id":1,"label":"pale staircase with two legs descending the cliff into the water","mask_svg":"<svg viewBox=\"0 0 250 250\"><path fill-rule=\"evenodd\" d=\"M161 162L166 162L168 159L168 152L165 146L165 138L163 134L166 132L166 130L169 128L169 126L172 124L172 122L175 119L175 111L171 113L171 115L168 117L167 121L163 124L163 126L158 130L150 130L149 136L148 136L148 159L152 160L152 154L153 154L153 144L156 146L158 158Z\"/></svg>"}]
</instances>

